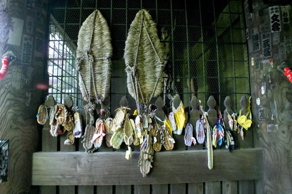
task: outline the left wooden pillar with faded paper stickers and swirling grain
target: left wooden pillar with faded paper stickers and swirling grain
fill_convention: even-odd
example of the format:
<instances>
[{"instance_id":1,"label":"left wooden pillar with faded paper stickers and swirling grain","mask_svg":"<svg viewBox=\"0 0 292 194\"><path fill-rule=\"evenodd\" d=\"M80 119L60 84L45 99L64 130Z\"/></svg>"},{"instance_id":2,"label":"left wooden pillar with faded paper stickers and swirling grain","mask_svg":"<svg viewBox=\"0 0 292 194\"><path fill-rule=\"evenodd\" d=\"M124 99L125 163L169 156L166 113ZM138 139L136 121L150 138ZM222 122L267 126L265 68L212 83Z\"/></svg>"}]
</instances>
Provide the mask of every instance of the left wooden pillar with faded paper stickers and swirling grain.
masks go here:
<instances>
[{"instance_id":1,"label":"left wooden pillar with faded paper stickers and swirling grain","mask_svg":"<svg viewBox=\"0 0 292 194\"><path fill-rule=\"evenodd\" d=\"M0 58L7 52L16 57L0 80L0 139L9 139L8 182L0 184L0 193L31 188L40 131L36 114L44 99L39 84L46 71L47 14L47 0L0 1Z\"/></svg>"}]
</instances>

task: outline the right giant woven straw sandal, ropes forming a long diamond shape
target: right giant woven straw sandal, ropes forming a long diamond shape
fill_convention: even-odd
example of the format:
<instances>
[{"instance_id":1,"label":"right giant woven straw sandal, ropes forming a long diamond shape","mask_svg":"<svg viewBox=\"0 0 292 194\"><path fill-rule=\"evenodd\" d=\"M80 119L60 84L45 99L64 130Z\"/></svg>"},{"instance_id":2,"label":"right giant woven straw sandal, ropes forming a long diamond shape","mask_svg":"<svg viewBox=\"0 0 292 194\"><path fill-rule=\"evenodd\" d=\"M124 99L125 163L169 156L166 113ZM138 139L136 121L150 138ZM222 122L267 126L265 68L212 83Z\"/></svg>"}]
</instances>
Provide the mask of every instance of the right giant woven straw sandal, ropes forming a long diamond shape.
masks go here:
<instances>
[{"instance_id":1,"label":"right giant woven straw sandal, ropes forming a long diamond shape","mask_svg":"<svg viewBox=\"0 0 292 194\"><path fill-rule=\"evenodd\" d=\"M131 23L124 53L127 87L136 103L148 104L161 93L163 54L156 24L142 9Z\"/></svg>"}]
</instances>

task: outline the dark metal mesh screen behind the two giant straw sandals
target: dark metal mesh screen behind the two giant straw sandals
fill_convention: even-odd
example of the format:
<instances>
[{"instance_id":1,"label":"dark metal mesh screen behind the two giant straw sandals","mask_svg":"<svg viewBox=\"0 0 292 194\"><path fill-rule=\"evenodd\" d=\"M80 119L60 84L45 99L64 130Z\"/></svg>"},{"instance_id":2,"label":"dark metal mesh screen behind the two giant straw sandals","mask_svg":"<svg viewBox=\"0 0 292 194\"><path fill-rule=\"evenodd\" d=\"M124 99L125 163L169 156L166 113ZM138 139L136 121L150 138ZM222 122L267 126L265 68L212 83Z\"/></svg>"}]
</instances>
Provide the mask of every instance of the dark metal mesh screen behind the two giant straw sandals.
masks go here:
<instances>
[{"instance_id":1,"label":"dark metal mesh screen behind the two giant straw sandals","mask_svg":"<svg viewBox=\"0 0 292 194\"><path fill-rule=\"evenodd\" d=\"M135 109L135 101L126 89L122 58L128 29L141 8L152 15L163 44L168 45L167 96L179 94L185 106L189 106L192 98L190 80L193 79L194 94L205 109L210 95L215 97L221 109L225 109L225 97L231 96L237 102L234 108L238 109L239 98L250 94L241 0L55 1L52 14L67 33L65 42L68 45L77 45L79 28L95 9L99 9L107 20L113 45L111 109L119 107L123 95L128 96L132 110ZM167 96L166 109L170 107Z\"/></svg>"}]
</instances>

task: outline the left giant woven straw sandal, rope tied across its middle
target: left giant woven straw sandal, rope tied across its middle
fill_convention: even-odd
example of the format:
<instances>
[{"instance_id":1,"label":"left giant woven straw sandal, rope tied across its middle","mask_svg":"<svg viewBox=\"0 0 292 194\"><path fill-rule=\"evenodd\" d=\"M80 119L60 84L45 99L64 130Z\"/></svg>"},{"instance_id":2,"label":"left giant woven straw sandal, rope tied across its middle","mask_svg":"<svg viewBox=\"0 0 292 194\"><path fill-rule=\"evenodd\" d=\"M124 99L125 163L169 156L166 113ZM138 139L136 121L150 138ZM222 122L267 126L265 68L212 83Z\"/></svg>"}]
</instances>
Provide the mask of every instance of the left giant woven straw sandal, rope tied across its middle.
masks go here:
<instances>
[{"instance_id":1,"label":"left giant woven straw sandal, rope tied across its middle","mask_svg":"<svg viewBox=\"0 0 292 194\"><path fill-rule=\"evenodd\" d=\"M107 21L95 10L83 22L77 42L79 86L84 100L102 102L111 77L112 44Z\"/></svg>"}]
</instances>

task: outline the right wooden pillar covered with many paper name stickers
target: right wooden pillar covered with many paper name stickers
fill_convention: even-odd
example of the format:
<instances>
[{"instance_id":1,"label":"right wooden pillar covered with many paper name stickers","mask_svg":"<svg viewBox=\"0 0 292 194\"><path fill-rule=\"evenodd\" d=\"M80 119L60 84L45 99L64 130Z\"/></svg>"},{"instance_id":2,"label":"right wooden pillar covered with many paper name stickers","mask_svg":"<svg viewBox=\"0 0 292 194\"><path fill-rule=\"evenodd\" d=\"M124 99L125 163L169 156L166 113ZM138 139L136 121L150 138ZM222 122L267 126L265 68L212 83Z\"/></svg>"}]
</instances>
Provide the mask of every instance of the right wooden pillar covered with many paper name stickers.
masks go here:
<instances>
[{"instance_id":1,"label":"right wooden pillar covered with many paper name stickers","mask_svg":"<svg viewBox=\"0 0 292 194\"><path fill-rule=\"evenodd\" d=\"M248 6L246 1L244 8L249 33L253 140L255 147L263 147L265 170L264 179L255 181L256 193L291 193L292 83L280 71L284 61L284 67L292 68L291 6L281 5L284 1L277 1L277 6L260 0L252 3Z\"/></svg>"}]
</instances>

